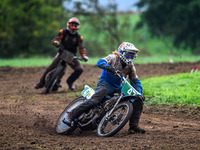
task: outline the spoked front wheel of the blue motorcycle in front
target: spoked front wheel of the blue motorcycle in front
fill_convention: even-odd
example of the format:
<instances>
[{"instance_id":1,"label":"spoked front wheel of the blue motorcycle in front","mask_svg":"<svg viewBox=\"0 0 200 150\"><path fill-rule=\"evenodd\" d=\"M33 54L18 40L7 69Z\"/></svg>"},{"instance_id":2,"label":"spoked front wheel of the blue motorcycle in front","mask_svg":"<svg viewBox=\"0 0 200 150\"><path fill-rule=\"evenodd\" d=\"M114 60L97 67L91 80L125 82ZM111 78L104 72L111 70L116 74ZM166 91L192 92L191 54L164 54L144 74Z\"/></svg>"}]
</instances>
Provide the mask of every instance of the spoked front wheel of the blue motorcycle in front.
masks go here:
<instances>
[{"instance_id":1,"label":"spoked front wheel of the blue motorcycle in front","mask_svg":"<svg viewBox=\"0 0 200 150\"><path fill-rule=\"evenodd\" d=\"M130 119L133 106L129 102L122 102L117 105L110 116L108 113L102 118L97 128L97 135L109 137L119 132Z\"/></svg>"}]
</instances>

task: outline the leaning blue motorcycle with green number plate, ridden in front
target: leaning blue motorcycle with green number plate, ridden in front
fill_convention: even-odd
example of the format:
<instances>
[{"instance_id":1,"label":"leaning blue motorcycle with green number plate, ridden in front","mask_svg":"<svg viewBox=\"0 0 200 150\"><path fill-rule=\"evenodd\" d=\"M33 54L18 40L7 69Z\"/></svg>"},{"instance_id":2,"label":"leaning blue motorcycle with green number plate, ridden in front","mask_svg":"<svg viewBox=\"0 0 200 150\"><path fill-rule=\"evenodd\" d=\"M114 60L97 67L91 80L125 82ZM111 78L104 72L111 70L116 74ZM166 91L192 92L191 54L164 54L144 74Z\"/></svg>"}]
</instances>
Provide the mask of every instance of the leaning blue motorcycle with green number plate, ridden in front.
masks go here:
<instances>
[{"instance_id":1,"label":"leaning blue motorcycle with green number plate, ridden in front","mask_svg":"<svg viewBox=\"0 0 200 150\"><path fill-rule=\"evenodd\" d=\"M65 118L68 113L89 100L95 91L85 85L81 92L81 97L72 101L61 113L56 124L56 132L59 134L71 134L76 128L83 131L96 130L97 136L110 137L118 133L130 119L133 106L137 96L141 95L128 80L116 73L122 81L122 89L120 93L116 93L113 97L105 96L98 106L81 114L73 125L68 126Z\"/></svg>"}]
</instances>

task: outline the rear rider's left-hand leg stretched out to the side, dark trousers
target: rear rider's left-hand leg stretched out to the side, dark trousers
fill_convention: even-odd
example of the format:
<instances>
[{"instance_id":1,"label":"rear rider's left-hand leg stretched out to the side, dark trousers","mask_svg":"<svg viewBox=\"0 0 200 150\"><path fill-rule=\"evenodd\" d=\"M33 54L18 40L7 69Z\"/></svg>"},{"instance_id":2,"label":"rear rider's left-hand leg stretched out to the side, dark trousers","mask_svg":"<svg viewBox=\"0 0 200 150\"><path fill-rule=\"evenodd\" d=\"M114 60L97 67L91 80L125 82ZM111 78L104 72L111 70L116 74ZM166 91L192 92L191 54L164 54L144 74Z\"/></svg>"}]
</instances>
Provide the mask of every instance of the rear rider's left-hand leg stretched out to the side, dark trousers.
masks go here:
<instances>
[{"instance_id":1,"label":"rear rider's left-hand leg stretched out to the side, dark trousers","mask_svg":"<svg viewBox=\"0 0 200 150\"><path fill-rule=\"evenodd\" d=\"M57 67L57 65L60 62L60 54L57 53L56 57L54 58L53 62L49 65L49 67L45 70L45 72L43 73L42 77L40 78L40 82L37 83L36 85L34 85L35 89L39 89L39 88L43 88L45 85L45 77L46 75L52 71L53 69L55 69Z\"/></svg>"}]
</instances>

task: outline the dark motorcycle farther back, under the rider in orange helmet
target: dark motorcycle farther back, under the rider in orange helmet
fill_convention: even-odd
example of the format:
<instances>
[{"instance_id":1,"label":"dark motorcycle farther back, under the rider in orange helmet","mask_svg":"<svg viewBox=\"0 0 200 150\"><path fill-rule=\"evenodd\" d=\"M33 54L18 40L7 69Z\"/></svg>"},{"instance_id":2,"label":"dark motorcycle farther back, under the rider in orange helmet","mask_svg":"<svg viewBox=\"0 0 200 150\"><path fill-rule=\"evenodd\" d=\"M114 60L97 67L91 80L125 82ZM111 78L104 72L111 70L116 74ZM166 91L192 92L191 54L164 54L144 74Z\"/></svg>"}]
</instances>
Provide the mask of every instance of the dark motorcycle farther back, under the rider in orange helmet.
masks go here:
<instances>
[{"instance_id":1,"label":"dark motorcycle farther back, under the rider in orange helmet","mask_svg":"<svg viewBox=\"0 0 200 150\"><path fill-rule=\"evenodd\" d=\"M74 56L72 52L65 50L62 45L60 45L60 49L62 50L61 61L55 69L46 75L44 94L48 94L51 91L57 90L59 87L61 87L60 80L65 74L67 65L70 64L73 59L83 61L81 58Z\"/></svg>"}]
</instances>

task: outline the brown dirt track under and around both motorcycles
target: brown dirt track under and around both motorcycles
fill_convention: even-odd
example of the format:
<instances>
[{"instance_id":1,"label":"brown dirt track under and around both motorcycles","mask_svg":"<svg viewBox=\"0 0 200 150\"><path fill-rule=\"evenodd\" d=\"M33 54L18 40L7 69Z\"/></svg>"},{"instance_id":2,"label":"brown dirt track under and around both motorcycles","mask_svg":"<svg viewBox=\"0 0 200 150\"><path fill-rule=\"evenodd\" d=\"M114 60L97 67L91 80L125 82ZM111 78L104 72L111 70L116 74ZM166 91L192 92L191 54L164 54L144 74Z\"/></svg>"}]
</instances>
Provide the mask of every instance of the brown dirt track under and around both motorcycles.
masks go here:
<instances>
[{"instance_id":1,"label":"brown dirt track under and around both motorcycles","mask_svg":"<svg viewBox=\"0 0 200 150\"><path fill-rule=\"evenodd\" d=\"M140 78L190 72L198 63L137 65ZM84 66L85 71L76 82L96 84L101 69ZM55 132L55 124L62 110L77 93L63 87L57 93L43 95L35 90L45 67L0 68L0 149L200 149L200 108L145 106L141 127L145 134L128 135L128 125L110 138L99 138L95 131L62 136ZM68 73L72 70L67 69ZM145 89L144 89L145 90Z\"/></svg>"}]
</instances>

